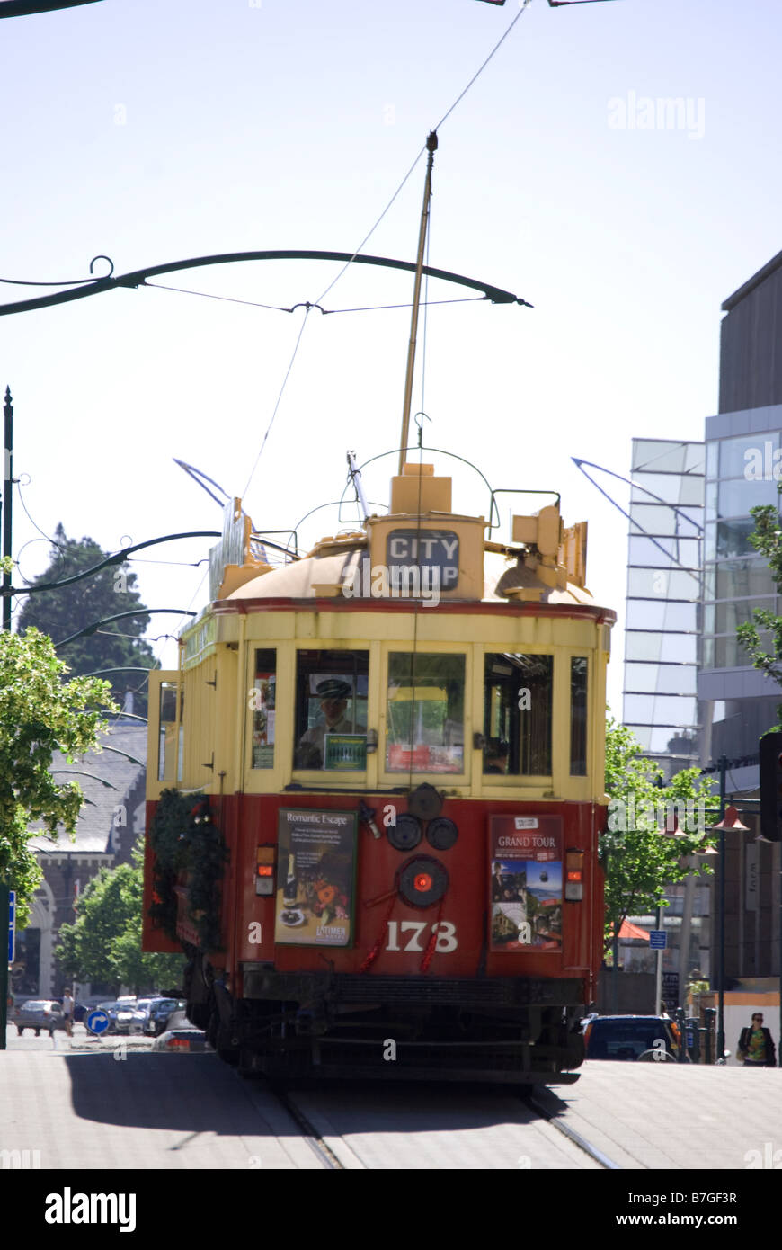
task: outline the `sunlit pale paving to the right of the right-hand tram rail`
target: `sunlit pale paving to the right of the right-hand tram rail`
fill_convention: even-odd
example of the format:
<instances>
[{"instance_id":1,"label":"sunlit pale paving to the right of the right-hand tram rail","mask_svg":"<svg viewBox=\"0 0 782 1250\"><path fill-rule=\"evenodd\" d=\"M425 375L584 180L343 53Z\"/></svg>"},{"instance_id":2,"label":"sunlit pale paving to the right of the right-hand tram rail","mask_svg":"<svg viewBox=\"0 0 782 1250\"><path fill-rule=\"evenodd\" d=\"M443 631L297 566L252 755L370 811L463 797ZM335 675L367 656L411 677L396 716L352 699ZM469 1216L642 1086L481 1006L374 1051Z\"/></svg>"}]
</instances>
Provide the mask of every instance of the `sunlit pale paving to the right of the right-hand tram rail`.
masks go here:
<instances>
[{"instance_id":1,"label":"sunlit pale paving to the right of the right-hand tram rail","mask_svg":"<svg viewBox=\"0 0 782 1250\"><path fill-rule=\"evenodd\" d=\"M622 1169L741 1171L782 1151L778 1068L587 1060L540 1098Z\"/></svg>"}]
</instances>

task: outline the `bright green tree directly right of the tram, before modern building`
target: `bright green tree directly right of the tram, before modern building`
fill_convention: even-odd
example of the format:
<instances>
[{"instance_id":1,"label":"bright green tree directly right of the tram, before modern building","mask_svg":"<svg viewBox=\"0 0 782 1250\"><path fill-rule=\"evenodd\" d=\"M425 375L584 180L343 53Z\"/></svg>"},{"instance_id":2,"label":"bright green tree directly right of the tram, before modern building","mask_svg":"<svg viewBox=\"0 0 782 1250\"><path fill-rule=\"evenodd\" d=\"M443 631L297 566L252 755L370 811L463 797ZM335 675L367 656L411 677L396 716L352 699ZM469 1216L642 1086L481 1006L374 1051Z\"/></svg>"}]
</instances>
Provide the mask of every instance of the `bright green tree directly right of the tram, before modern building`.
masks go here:
<instances>
[{"instance_id":1,"label":"bright green tree directly right of the tram, before modern building","mask_svg":"<svg viewBox=\"0 0 782 1250\"><path fill-rule=\"evenodd\" d=\"M632 731L608 718L606 725L607 830L600 851L606 866L606 946L628 915L666 906L668 885L682 881L690 868L682 858L713 841L710 825L718 819L720 800L698 769L683 769L662 785L662 769L645 759ZM668 838L675 819L686 838ZM708 871L703 868L702 871Z\"/></svg>"}]
</instances>

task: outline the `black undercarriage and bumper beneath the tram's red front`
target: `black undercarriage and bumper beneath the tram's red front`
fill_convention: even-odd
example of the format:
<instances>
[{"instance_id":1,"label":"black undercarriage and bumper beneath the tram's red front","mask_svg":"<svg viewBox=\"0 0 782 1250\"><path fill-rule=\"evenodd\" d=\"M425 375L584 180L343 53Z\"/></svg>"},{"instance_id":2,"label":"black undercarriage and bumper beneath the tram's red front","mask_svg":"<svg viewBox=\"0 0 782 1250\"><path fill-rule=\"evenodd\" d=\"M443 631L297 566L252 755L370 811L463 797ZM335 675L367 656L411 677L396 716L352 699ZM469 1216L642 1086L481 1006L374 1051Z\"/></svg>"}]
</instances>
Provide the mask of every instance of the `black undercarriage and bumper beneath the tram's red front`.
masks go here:
<instances>
[{"instance_id":1,"label":"black undercarriage and bumper beneath the tram's red front","mask_svg":"<svg viewBox=\"0 0 782 1250\"><path fill-rule=\"evenodd\" d=\"M234 999L195 962L187 1014L244 1075L567 1084L583 1061L580 980L245 965L244 998Z\"/></svg>"}]
</instances>

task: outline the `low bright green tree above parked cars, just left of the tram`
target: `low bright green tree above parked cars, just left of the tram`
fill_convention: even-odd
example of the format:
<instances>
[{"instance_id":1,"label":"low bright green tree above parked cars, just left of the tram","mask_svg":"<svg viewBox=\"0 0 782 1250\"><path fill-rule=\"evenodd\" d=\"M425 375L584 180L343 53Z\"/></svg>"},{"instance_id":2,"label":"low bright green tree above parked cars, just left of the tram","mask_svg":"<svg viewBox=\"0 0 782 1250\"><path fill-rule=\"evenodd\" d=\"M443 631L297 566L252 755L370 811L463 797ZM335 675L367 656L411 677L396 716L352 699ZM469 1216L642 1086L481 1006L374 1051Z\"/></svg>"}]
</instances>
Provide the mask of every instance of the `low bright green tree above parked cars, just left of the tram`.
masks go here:
<instances>
[{"instance_id":1,"label":"low bright green tree above parked cars, just left of the tram","mask_svg":"<svg viewBox=\"0 0 782 1250\"><path fill-rule=\"evenodd\" d=\"M55 956L67 976L102 981L119 992L127 985L144 989L181 981L182 955L152 955L141 950L144 850L134 849L132 864L102 868L79 899L72 925L60 928Z\"/></svg>"}]
</instances>

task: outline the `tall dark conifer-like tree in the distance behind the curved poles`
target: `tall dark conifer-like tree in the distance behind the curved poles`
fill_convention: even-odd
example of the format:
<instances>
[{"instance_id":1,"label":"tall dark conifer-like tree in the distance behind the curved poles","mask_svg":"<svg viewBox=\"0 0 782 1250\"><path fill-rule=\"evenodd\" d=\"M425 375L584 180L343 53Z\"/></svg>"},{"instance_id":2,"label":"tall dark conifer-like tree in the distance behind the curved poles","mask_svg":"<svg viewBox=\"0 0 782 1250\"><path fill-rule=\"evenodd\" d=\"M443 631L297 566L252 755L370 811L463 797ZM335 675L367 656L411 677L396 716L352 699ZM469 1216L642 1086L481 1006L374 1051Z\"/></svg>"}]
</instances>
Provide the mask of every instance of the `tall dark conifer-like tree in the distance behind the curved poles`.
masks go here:
<instances>
[{"instance_id":1,"label":"tall dark conifer-like tree in the distance behind the curved poles","mask_svg":"<svg viewBox=\"0 0 782 1250\"><path fill-rule=\"evenodd\" d=\"M100 564L107 555L109 552L102 551L92 539L82 538L80 542L69 539L60 524L55 531L49 568L31 585L65 581ZM127 562L109 565L100 572L61 590L44 590L27 595L16 629L21 634L34 626L41 634L49 634L56 645L97 620L134 611L137 608L137 614L134 616L101 625L100 632L79 638L66 646L57 646L57 655L74 674L96 672L124 665L151 669L155 666L155 656L141 638L150 618L145 612L145 605L135 585L136 575L131 572ZM134 711L140 716L146 715L146 684L142 674L112 672L107 675L107 680L111 684L112 696L120 706L125 691L131 689L136 691Z\"/></svg>"}]
</instances>

